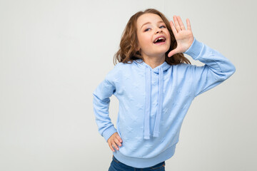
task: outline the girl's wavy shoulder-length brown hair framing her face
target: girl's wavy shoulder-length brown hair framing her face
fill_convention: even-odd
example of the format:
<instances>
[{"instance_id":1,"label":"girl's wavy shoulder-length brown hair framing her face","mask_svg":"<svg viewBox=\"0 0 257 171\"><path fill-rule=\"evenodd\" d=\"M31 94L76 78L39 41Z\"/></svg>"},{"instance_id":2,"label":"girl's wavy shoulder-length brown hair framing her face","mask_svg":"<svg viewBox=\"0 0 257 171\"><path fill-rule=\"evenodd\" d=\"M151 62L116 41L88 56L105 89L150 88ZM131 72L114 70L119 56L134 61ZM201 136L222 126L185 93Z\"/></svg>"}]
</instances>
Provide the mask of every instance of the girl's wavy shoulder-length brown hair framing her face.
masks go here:
<instances>
[{"instance_id":1,"label":"girl's wavy shoulder-length brown hair framing her face","mask_svg":"<svg viewBox=\"0 0 257 171\"><path fill-rule=\"evenodd\" d=\"M114 55L114 65L117 63L117 61L122 63L131 63L133 62L133 60L143 59L143 56L141 56L140 51L136 50L136 48L138 47L138 38L136 34L136 28L137 28L136 21L139 16L143 14L148 14L148 13L157 14L158 16L160 16L163 22L166 24L166 27L168 28L168 32L171 35L171 46L168 49L168 51L165 53L166 63L170 65L176 65L178 63L190 63L188 58L183 56L183 53L176 53L170 58L168 57L168 52L173 50L177 46L176 38L173 35L173 32L171 31L171 26L168 22L168 19L166 19L166 16L164 16L160 11L156 9L146 9L145 11L138 11L129 19L129 22L126 25L126 28L124 29L124 32L121 36L119 51L117 51Z\"/></svg>"}]
</instances>

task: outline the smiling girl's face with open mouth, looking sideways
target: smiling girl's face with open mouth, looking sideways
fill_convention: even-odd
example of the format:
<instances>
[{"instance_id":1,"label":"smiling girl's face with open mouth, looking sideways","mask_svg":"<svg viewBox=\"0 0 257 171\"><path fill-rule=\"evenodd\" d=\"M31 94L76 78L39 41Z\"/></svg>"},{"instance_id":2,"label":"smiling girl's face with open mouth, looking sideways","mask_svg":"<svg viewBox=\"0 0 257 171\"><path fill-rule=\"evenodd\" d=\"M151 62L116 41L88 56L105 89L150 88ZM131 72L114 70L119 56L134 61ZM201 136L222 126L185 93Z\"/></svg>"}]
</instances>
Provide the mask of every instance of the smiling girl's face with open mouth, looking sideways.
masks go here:
<instances>
[{"instance_id":1,"label":"smiling girl's face with open mouth, looking sideways","mask_svg":"<svg viewBox=\"0 0 257 171\"><path fill-rule=\"evenodd\" d=\"M160 16L143 14L136 22L138 49L145 57L165 58L171 45L171 36Z\"/></svg>"}]
</instances>

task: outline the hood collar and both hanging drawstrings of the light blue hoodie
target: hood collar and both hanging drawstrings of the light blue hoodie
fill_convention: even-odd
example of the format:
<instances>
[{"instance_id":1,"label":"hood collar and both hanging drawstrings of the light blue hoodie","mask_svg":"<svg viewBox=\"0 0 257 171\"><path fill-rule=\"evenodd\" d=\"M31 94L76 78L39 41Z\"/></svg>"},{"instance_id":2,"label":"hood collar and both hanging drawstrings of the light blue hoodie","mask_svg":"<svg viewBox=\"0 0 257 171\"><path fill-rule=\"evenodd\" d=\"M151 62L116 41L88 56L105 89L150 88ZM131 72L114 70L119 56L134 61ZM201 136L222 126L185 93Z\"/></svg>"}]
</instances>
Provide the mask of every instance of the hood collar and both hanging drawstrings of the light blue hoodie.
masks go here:
<instances>
[{"instance_id":1,"label":"hood collar and both hanging drawstrings of the light blue hoodie","mask_svg":"<svg viewBox=\"0 0 257 171\"><path fill-rule=\"evenodd\" d=\"M144 63L143 60L137 59L134 61L138 66L143 67L146 74L146 100L145 100L145 111L144 111L144 122L143 122L143 138L149 140L151 135L158 137L160 121L161 121L161 110L163 105L163 72L168 70L171 66L164 61L160 66L151 68L148 64ZM158 74L158 106L153 126L153 133L150 133L150 113L151 113L151 75L152 73Z\"/></svg>"}]
</instances>

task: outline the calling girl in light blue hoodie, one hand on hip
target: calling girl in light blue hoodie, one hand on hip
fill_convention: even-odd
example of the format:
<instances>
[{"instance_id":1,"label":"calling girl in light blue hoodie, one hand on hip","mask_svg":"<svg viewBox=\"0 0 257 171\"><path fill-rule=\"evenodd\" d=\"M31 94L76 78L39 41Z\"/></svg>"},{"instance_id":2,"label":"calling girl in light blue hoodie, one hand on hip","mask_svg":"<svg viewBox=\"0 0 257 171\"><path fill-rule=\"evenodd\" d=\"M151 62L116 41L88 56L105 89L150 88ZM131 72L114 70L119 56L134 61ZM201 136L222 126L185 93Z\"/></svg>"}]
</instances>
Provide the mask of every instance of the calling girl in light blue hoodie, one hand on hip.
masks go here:
<instances>
[{"instance_id":1,"label":"calling girl in light blue hoodie, one hand on hip","mask_svg":"<svg viewBox=\"0 0 257 171\"><path fill-rule=\"evenodd\" d=\"M94 91L99 133L113 151L109 170L164 170L193 98L229 78L235 67L196 40L179 16L170 23L155 9L131 16L121 38L119 61ZM192 66L188 54L204 66ZM111 95L119 99L114 128ZM115 150L114 150L115 149Z\"/></svg>"}]
</instances>

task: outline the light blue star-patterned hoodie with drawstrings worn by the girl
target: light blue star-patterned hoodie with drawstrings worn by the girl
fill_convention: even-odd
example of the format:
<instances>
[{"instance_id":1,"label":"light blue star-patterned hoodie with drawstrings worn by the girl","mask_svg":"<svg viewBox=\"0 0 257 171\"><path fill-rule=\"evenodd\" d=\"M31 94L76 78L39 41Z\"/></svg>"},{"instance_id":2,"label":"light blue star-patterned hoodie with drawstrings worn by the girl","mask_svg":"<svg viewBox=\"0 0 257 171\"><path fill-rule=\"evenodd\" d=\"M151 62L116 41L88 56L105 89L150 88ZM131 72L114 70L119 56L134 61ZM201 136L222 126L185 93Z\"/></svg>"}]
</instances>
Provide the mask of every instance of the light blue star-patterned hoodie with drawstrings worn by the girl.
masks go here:
<instances>
[{"instance_id":1,"label":"light blue star-patterned hoodie with drawstrings worn by the girl","mask_svg":"<svg viewBox=\"0 0 257 171\"><path fill-rule=\"evenodd\" d=\"M229 78L235 67L218 51L194 39L185 52L194 60L151 68L141 59L118 63L94 91L94 113L106 141L118 132L123 140L114 156L131 167L151 167L173 156L181 124L193 98ZM119 100L114 128L111 95Z\"/></svg>"}]
</instances>

